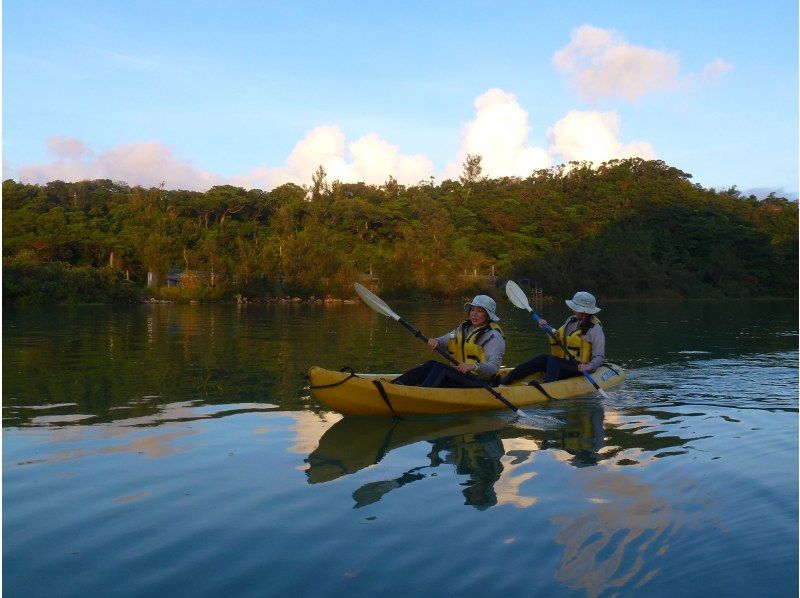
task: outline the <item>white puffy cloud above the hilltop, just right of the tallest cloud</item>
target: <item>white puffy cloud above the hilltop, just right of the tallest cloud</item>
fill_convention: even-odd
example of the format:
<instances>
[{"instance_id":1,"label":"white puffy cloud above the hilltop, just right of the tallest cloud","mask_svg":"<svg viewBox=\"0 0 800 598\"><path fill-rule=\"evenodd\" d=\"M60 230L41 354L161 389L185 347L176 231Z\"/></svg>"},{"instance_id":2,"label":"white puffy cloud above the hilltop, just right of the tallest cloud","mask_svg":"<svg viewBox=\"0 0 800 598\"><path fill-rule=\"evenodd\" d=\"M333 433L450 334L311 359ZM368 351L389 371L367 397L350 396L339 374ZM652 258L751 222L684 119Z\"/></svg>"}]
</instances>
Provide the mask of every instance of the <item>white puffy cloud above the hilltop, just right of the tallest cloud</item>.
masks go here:
<instances>
[{"instance_id":1,"label":"white puffy cloud above the hilltop, just right of the tallest cloud","mask_svg":"<svg viewBox=\"0 0 800 598\"><path fill-rule=\"evenodd\" d=\"M571 110L548 130L551 153L564 162L573 160L600 164L617 158L638 156L645 160L656 157L652 146L643 141L623 145L618 139L619 116L616 112L581 112Z\"/></svg>"}]
</instances>

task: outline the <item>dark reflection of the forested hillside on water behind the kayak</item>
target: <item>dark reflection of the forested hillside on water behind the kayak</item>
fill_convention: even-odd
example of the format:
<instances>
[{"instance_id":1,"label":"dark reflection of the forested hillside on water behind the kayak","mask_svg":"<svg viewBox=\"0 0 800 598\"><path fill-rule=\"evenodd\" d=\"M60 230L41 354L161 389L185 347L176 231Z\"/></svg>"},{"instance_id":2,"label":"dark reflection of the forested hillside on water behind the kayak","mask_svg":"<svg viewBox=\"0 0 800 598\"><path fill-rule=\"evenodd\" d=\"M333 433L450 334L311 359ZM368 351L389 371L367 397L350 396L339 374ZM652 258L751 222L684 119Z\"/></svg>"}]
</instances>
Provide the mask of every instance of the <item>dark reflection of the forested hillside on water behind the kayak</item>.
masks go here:
<instances>
[{"instance_id":1,"label":"dark reflection of the forested hillside on water behind the kayak","mask_svg":"<svg viewBox=\"0 0 800 598\"><path fill-rule=\"evenodd\" d=\"M458 317L460 304L406 310L421 329L436 330ZM752 365L760 375L772 358L797 348L796 302L626 302L607 311L614 359L631 378L652 374L667 390L683 381L677 398L707 390L707 373L715 370L729 373L714 383L728 401L740 392L741 365ZM3 404L20 408L4 412L6 426L36 425L32 409L65 404L75 408L64 412L111 422L124 416L118 410L148 396L161 397L161 403L263 399L287 411L310 407L322 413L303 392L309 366L392 372L426 358L402 327L389 326L364 305L81 306L9 309L3 315ZM507 316L509 365L545 349L542 335L531 333L527 314L513 310ZM650 323L646 331L638 325L642 321ZM730 322L742 328L731 329ZM778 375L791 381L795 372L792 353ZM155 401L141 404L137 414L156 409Z\"/></svg>"}]
</instances>

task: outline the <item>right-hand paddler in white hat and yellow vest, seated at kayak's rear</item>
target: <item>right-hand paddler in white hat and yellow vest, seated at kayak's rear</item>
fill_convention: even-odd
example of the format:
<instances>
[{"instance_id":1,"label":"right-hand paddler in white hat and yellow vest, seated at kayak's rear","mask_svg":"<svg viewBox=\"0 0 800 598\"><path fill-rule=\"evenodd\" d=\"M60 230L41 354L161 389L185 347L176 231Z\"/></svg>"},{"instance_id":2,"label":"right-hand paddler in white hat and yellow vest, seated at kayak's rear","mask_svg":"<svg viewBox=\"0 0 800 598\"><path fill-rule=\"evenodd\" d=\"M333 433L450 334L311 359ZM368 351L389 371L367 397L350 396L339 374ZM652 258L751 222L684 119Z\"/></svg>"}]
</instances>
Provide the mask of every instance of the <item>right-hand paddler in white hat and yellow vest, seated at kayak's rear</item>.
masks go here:
<instances>
[{"instance_id":1,"label":"right-hand paddler in white hat and yellow vest, seated at kayak's rear","mask_svg":"<svg viewBox=\"0 0 800 598\"><path fill-rule=\"evenodd\" d=\"M561 343L548 336L550 354L537 355L515 367L500 384L511 384L535 374L544 372L544 382L563 380L580 376L583 372L594 372L605 363L606 335L600 320L595 316L600 311L594 295L578 291L572 299L566 299L574 313L556 331L558 339L566 345L569 355ZM547 327L547 320L540 319L539 326Z\"/></svg>"}]
</instances>

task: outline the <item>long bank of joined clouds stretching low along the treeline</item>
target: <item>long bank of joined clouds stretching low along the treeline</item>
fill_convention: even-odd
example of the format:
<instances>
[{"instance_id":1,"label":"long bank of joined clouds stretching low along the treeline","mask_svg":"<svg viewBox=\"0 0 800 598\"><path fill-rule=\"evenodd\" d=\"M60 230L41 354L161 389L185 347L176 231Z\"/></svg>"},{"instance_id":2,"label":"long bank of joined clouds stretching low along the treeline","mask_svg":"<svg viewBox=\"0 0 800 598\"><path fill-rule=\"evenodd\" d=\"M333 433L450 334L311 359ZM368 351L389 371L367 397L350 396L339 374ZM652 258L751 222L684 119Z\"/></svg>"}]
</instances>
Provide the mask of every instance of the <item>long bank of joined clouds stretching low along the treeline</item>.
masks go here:
<instances>
[{"instance_id":1,"label":"long bank of joined clouds stretching low along the treeline","mask_svg":"<svg viewBox=\"0 0 800 598\"><path fill-rule=\"evenodd\" d=\"M545 149L528 143L528 113L514 94L490 89L478 96L474 105L474 117L462 129L458 154L440 172L428 157L403 154L377 133L348 141L339 126L322 125L298 141L282 165L261 165L236 176L223 177L198 168L176 156L173 148L156 141L119 145L95 153L79 139L51 137L47 148L52 159L20 168L18 178L31 183L107 178L146 187L164 182L171 189L197 191L221 184L273 189L287 182L309 185L322 166L328 181L380 185L392 176L401 184L415 185L434 175L458 178L468 154L481 156L483 174L490 178L526 177L550 167L556 159L599 164L629 156L655 157L649 143L620 140L616 112L569 112L547 130L549 146Z\"/></svg>"}]
</instances>

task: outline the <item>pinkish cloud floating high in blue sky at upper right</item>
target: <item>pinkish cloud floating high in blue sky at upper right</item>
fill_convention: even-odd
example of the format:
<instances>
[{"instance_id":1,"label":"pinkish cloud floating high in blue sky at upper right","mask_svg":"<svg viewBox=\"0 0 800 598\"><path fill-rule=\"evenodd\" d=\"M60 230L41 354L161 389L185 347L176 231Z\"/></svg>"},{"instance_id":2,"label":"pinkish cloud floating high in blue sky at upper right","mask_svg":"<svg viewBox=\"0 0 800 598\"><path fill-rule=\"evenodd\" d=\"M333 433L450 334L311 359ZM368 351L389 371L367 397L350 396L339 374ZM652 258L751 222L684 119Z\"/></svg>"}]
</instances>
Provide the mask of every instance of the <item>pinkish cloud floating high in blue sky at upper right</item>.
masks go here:
<instances>
[{"instance_id":1,"label":"pinkish cloud floating high in blue sky at upper right","mask_svg":"<svg viewBox=\"0 0 800 598\"><path fill-rule=\"evenodd\" d=\"M628 44L619 33L581 25L553 55L553 65L587 100L622 97L636 101L680 86L674 52Z\"/></svg>"}]
</instances>

